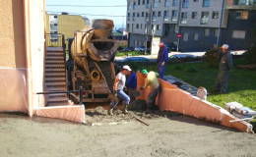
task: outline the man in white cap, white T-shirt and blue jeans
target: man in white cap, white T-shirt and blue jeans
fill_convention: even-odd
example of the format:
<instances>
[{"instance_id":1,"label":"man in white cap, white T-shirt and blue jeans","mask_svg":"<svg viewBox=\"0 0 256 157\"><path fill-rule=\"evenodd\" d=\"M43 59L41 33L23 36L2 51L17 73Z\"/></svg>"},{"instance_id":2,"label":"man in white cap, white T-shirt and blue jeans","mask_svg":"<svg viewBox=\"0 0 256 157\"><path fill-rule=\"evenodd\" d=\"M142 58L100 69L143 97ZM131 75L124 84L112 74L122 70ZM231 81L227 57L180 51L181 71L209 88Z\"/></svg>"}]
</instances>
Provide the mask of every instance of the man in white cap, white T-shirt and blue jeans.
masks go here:
<instances>
[{"instance_id":1,"label":"man in white cap, white T-shirt and blue jeans","mask_svg":"<svg viewBox=\"0 0 256 157\"><path fill-rule=\"evenodd\" d=\"M118 98L118 101L112 100L112 102L109 105L108 114L113 115L113 108L118 104L120 99L123 99L124 109L123 113L127 114L127 106L130 102L130 97L123 91L125 81L126 81L126 75L129 71L132 71L131 68L127 65L123 66L121 72L118 73L118 75L114 79L114 85L113 85L113 91L114 95Z\"/></svg>"}]
</instances>

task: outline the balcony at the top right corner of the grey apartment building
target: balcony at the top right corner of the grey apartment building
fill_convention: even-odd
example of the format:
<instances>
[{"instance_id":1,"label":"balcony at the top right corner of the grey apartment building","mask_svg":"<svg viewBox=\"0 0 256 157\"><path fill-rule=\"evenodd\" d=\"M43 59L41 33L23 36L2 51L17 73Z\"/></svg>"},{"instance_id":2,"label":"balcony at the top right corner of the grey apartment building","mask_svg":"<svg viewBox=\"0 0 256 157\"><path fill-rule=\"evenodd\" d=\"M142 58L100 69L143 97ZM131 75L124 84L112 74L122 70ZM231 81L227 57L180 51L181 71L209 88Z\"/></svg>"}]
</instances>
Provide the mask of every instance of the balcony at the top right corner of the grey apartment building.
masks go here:
<instances>
[{"instance_id":1,"label":"balcony at the top right corner of the grey apartment building","mask_svg":"<svg viewBox=\"0 0 256 157\"><path fill-rule=\"evenodd\" d=\"M256 0L227 0L226 9L256 10Z\"/></svg>"}]
</instances>

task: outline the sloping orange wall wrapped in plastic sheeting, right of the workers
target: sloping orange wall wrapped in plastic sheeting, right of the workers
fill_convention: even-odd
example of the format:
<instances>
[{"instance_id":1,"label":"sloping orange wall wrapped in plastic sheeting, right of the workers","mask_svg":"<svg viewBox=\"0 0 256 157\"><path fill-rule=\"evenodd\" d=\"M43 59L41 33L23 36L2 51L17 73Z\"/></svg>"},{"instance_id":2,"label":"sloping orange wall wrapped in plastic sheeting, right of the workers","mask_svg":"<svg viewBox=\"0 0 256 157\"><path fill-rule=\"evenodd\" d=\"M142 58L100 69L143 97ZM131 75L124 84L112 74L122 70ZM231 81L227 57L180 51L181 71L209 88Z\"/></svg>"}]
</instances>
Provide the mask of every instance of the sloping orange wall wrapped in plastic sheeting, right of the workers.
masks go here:
<instances>
[{"instance_id":1,"label":"sloping orange wall wrapped in plastic sheeting, right of the workers","mask_svg":"<svg viewBox=\"0 0 256 157\"><path fill-rule=\"evenodd\" d=\"M145 78L140 73L136 75L138 80L137 86L139 88L144 84ZM162 79L159 79L159 81L161 89L157 97L157 104L161 111L174 111L197 119L221 124L225 127L234 128L239 131L252 131L252 125L247 122L229 123L229 121L235 120L235 117L224 110L224 108L206 100L201 100ZM149 92L150 88L141 90L141 96L138 97L138 99L146 100Z\"/></svg>"}]
</instances>

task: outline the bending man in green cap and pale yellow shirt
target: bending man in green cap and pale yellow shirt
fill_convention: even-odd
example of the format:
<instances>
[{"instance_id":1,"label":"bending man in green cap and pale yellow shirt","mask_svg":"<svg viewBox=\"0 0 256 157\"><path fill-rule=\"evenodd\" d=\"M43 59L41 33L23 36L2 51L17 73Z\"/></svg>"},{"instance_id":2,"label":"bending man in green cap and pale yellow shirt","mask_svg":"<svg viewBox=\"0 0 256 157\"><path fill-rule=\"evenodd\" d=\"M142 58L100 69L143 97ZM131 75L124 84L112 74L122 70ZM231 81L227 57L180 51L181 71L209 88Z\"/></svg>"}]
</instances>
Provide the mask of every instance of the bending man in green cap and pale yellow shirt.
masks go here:
<instances>
[{"instance_id":1,"label":"bending man in green cap and pale yellow shirt","mask_svg":"<svg viewBox=\"0 0 256 157\"><path fill-rule=\"evenodd\" d=\"M157 73L151 71L148 73L147 70L142 70L141 72L146 78L145 85L141 87L141 89L145 89L148 86L151 87L151 91L147 97L147 111L155 109L156 106L156 98L160 91L160 83L158 80Z\"/></svg>"}]
</instances>

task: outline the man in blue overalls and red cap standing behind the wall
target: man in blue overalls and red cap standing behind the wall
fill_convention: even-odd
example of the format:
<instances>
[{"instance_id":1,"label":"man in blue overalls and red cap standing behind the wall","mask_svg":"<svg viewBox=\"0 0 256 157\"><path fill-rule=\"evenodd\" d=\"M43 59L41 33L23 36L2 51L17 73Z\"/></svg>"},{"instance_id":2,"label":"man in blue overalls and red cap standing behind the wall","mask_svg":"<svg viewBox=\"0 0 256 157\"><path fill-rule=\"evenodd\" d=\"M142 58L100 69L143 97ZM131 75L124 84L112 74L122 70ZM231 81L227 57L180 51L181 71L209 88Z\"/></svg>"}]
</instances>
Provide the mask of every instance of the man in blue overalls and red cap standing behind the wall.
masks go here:
<instances>
[{"instance_id":1,"label":"man in blue overalls and red cap standing behind the wall","mask_svg":"<svg viewBox=\"0 0 256 157\"><path fill-rule=\"evenodd\" d=\"M163 79L165 64L168 61L168 50L164 46L163 42L160 42L159 46L160 46L160 51L159 51L157 63L159 66L160 78Z\"/></svg>"}]
</instances>

